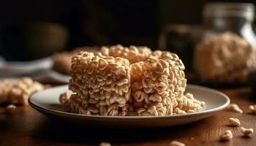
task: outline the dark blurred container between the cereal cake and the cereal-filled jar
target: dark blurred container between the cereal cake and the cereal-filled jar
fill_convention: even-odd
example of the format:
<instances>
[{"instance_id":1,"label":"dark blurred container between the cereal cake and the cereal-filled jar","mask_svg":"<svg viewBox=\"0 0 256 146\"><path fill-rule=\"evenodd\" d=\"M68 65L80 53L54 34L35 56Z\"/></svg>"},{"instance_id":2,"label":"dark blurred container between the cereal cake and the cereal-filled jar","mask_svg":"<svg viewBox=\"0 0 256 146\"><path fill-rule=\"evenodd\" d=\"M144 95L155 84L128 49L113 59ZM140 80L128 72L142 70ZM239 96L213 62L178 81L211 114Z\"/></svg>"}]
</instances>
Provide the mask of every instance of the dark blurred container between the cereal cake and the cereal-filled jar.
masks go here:
<instances>
[{"instance_id":1,"label":"dark blurred container between the cereal cake and the cereal-filled jar","mask_svg":"<svg viewBox=\"0 0 256 146\"><path fill-rule=\"evenodd\" d=\"M201 26L169 24L159 35L159 48L176 53L187 71L192 71L193 52Z\"/></svg>"}]
</instances>

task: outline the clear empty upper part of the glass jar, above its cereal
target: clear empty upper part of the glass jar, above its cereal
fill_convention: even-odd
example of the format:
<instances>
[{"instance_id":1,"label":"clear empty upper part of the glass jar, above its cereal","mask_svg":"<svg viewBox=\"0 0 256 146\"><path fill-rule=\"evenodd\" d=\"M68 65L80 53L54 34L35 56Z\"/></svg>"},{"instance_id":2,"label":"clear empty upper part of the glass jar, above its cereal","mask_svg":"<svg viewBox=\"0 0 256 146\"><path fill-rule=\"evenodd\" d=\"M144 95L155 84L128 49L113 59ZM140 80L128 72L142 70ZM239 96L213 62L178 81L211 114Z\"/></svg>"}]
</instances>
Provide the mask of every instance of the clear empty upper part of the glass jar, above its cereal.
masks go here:
<instances>
[{"instance_id":1,"label":"clear empty upper part of the glass jar, above its cereal","mask_svg":"<svg viewBox=\"0 0 256 146\"><path fill-rule=\"evenodd\" d=\"M256 37L252 28L255 6L249 3L213 2L203 9L203 26L201 38L211 34L232 31L244 38L256 50Z\"/></svg>"}]
</instances>

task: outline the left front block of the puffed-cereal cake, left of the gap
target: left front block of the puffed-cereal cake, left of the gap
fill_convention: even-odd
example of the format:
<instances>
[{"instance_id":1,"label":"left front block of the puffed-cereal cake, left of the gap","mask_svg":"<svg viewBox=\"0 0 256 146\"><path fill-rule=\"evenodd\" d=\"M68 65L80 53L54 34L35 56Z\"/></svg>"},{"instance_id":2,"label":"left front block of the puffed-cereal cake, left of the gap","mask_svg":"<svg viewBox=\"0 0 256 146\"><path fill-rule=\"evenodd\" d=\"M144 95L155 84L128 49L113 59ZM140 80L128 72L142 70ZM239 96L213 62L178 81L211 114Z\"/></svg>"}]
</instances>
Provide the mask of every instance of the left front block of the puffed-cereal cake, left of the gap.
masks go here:
<instances>
[{"instance_id":1,"label":"left front block of the puffed-cereal cake, left of the gap","mask_svg":"<svg viewBox=\"0 0 256 146\"><path fill-rule=\"evenodd\" d=\"M86 101L89 112L100 115L122 115L130 98L129 61L124 58L79 53L72 58L69 88ZM97 110L96 110L97 109ZM108 112L107 112L108 111Z\"/></svg>"}]
</instances>

